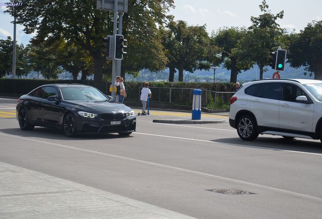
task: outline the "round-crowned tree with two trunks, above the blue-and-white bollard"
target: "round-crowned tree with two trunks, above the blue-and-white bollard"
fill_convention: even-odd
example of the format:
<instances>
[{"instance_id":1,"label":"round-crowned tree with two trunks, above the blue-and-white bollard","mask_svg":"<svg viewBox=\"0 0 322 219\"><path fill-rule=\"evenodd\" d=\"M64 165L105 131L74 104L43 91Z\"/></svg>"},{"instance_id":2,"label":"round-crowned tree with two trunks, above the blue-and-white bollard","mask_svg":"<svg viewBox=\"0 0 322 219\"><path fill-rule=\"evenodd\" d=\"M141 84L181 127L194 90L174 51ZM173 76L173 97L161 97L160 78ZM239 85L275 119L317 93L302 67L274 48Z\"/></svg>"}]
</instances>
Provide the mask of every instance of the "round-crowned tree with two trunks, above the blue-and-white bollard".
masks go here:
<instances>
[{"instance_id":1,"label":"round-crowned tree with two trunks, above the blue-and-white bollard","mask_svg":"<svg viewBox=\"0 0 322 219\"><path fill-rule=\"evenodd\" d=\"M188 26L185 21L174 21L173 16L167 29L162 30L163 45L170 69L169 81L173 81L175 69L179 71L179 81L183 81L183 70L194 72L196 69L209 69L210 63L204 62L210 46L206 26Z\"/></svg>"}]
</instances>

